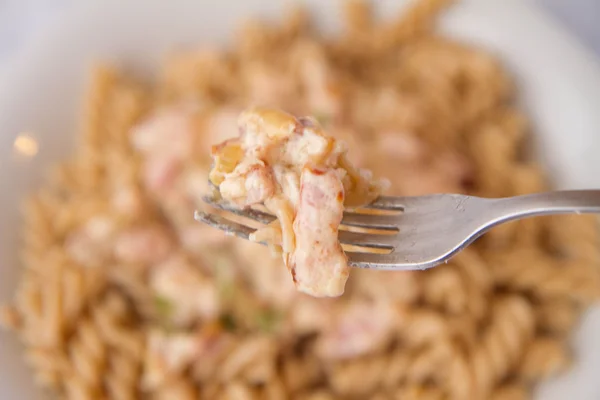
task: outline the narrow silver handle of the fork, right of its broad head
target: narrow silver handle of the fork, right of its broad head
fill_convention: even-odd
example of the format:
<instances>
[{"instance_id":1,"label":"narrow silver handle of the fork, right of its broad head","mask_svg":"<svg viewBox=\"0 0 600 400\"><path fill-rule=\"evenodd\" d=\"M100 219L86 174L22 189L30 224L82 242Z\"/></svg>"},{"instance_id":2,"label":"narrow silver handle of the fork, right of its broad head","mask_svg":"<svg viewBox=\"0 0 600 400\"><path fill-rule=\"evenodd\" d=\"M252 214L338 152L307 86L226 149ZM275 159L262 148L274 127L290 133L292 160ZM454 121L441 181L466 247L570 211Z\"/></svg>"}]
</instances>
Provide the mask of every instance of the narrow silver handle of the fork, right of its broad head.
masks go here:
<instances>
[{"instance_id":1,"label":"narrow silver handle of the fork, right of its broad head","mask_svg":"<svg viewBox=\"0 0 600 400\"><path fill-rule=\"evenodd\" d=\"M492 209L506 222L551 214L600 213L600 190L563 190L492 200Z\"/></svg>"}]
</instances>

